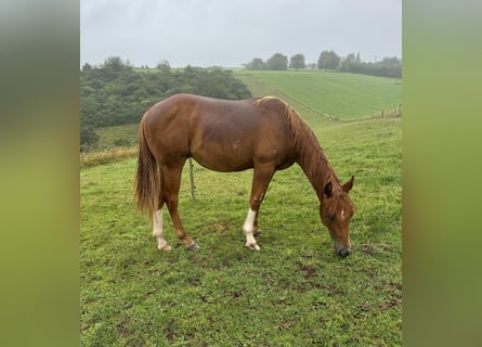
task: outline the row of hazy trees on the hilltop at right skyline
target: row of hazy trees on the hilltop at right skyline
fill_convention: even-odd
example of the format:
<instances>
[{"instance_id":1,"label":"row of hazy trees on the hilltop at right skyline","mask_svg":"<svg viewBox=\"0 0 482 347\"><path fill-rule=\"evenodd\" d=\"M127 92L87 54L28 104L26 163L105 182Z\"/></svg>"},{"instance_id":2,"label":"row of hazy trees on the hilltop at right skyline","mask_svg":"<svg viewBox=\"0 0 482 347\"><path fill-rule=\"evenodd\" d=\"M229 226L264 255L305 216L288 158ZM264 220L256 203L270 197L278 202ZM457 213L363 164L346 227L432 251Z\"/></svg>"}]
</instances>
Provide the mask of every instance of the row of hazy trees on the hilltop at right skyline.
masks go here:
<instances>
[{"instance_id":1,"label":"row of hazy trees on the hilltop at right skyline","mask_svg":"<svg viewBox=\"0 0 482 347\"><path fill-rule=\"evenodd\" d=\"M324 69L334 72L346 72L353 74L366 74L385 77L402 77L402 61L396 56L383 57L379 62L363 62L360 53L350 53L346 57L339 56L335 51L323 51L320 53L317 63L307 64L304 55L298 53L289 60L287 55L275 53L265 62L261 57L253 57L245 64L245 68L253 70L285 70L294 69Z\"/></svg>"}]
</instances>

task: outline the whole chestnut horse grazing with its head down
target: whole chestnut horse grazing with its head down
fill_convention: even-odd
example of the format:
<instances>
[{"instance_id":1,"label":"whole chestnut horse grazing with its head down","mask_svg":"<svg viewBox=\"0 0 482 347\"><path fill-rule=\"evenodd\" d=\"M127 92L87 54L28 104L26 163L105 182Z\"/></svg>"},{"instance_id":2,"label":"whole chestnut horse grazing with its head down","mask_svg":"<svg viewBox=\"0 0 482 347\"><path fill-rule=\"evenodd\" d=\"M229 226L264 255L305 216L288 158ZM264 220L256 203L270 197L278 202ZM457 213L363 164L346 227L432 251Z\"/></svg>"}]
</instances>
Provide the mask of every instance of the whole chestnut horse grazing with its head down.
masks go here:
<instances>
[{"instance_id":1,"label":"whole chestnut horse grazing with its head down","mask_svg":"<svg viewBox=\"0 0 482 347\"><path fill-rule=\"evenodd\" d=\"M260 249L255 239L260 231L258 213L274 172L299 164L318 196L321 220L329 230L335 252L342 257L350 254L349 222L354 207L348 192L354 178L340 184L313 131L284 101L175 94L144 114L135 197L138 208L151 217L160 250L171 249L164 239L165 203L179 239L187 249L198 248L178 213L181 174L188 157L216 171L255 169L243 227L246 247L251 250Z\"/></svg>"}]
</instances>

